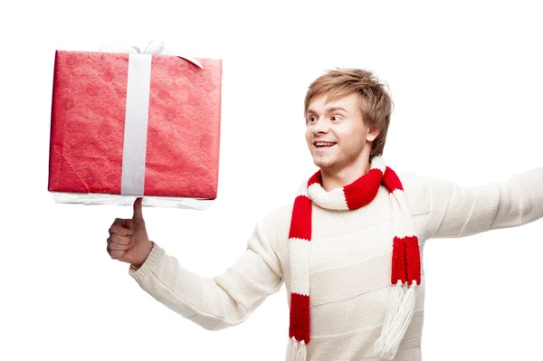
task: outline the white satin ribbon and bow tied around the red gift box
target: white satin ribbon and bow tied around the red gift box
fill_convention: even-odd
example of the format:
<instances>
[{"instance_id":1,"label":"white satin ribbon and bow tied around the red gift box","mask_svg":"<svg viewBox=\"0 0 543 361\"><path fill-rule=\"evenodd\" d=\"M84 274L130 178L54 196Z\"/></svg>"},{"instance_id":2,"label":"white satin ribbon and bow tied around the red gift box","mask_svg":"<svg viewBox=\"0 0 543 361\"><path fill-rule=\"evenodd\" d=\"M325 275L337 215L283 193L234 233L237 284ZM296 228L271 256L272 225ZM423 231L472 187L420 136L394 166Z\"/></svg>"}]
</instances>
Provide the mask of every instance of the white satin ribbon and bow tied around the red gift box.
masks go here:
<instances>
[{"instance_id":1,"label":"white satin ribbon and bow tied around the red gift box","mask_svg":"<svg viewBox=\"0 0 543 361\"><path fill-rule=\"evenodd\" d=\"M120 195L143 195L145 185L145 162L149 113L149 92L151 83L151 62L153 54L165 54L164 43L151 41L143 52L137 46L119 43L101 43L100 52L129 53L127 80L127 104L120 176ZM173 55L173 54L172 54ZM189 56L174 56L194 63L201 69L202 64Z\"/></svg>"}]
</instances>

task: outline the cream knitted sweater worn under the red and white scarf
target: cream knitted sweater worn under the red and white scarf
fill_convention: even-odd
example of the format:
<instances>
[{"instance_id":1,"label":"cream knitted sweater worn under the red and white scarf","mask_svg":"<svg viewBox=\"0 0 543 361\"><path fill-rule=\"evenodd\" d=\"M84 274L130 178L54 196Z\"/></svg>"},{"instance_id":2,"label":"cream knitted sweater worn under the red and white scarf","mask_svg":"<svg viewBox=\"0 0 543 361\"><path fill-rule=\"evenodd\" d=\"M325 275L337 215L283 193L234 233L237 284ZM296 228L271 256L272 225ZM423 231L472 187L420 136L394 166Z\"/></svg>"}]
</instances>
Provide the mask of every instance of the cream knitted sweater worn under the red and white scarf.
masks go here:
<instances>
[{"instance_id":1,"label":"cream knitted sweater worn under the red and white scarf","mask_svg":"<svg viewBox=\"0 0 543 361\"><path fill-rule=\"evenodd\" d=\"M463 237L543 217L543 167L506 182L459 187L414 174L400 176L421 258L430 238ZM156 243L129 274L152 297L203 328L237 325L281 289L290 293L288 237L292 204L264 217L247 249L224 274L200 278ZM381 187L374 201L349 212L313 204L308 360L374 360L373 345L390 294L392 209ZM395 360L421 360L424 263L414 317ZM286 347L288 330L285 330Z\"/></svg>"}]
</instances>

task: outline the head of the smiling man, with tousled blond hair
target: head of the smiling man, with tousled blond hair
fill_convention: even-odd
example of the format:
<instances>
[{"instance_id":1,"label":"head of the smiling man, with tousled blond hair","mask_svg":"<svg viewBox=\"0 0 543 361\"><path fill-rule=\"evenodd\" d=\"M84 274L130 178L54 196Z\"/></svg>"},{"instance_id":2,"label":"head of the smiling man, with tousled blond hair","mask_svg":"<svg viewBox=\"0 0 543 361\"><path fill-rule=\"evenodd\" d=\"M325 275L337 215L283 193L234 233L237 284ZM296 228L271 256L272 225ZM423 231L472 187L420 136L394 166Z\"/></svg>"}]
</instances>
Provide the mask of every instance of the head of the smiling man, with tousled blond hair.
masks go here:
<instances>
[{"instance_id":1,"label":"head of the smiling man, with tousled blond hair","mask_svg":"<svg viewBox=\"0 0 543 361\"><path fill-rule=\"evenodd\" d=\"M381 156L392 107L384 84L369 71L338 69L313 81L304 115L315 165L337 173Z\"/></svg>"}]
</instances>

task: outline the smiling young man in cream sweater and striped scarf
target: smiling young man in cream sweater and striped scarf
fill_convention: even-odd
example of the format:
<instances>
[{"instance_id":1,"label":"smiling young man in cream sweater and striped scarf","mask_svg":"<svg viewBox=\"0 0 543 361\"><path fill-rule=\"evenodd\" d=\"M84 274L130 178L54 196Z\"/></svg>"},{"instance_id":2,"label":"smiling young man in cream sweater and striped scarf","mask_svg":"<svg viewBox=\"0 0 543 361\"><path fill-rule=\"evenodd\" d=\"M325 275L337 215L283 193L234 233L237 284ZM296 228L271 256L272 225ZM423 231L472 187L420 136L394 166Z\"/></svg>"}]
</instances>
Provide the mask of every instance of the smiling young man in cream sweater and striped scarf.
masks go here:
<instances>
[{"instance_id":1,"label":"smiling young man in cream sweater and striped scarf","mask_svg":"<svg viewBox=\"0 0 543 361\"><path fill-rule=\"evenodd\" d=\"M141 288L206 329L243 322L284 282L288 360L421 360L420 248L433 237L543 217L543 168L469 188L398 177L380 157L391 111L383 84L368 71L329 71L313 81L306 140L319 172L291 204L256 224L224 274L195 276L151 242L141 198L132 219L110 227L110 257L129 262Z\"/></svg>"}]
</instances>

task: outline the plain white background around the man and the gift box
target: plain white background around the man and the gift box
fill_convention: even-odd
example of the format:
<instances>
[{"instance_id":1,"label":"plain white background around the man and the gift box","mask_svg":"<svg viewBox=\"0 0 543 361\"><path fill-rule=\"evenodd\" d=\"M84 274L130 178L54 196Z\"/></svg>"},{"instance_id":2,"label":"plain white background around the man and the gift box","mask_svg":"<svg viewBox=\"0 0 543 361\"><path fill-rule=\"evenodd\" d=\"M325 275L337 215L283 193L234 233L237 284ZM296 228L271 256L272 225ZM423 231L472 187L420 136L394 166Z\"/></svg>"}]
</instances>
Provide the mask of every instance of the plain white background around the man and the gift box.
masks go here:
<instances>
[{"instance_id":1,"label":"plain white background around the man and the gift box","mask_svg":"<svg viewBox=\"0 0 543 361\"><path fill-rule=\"evenodd\" d=\"M219 194L204 212L145 208L148 233L190 271L224 272L254 223L316 168L303 138L310 81L375 71L395 111L384 157L397 172L484 185L543 166L543 23L507 2L91 2L2 5L1 360L281 360L284 287L242 325L206 331L152 299L110 260L127 206L54 204L47 192L55 49L162 39L223 59ZM533 4L535 4L534 2ZM541 356L543 222L425 248L423 358Z\"/></svg>"}]
</instances>

